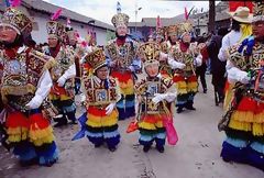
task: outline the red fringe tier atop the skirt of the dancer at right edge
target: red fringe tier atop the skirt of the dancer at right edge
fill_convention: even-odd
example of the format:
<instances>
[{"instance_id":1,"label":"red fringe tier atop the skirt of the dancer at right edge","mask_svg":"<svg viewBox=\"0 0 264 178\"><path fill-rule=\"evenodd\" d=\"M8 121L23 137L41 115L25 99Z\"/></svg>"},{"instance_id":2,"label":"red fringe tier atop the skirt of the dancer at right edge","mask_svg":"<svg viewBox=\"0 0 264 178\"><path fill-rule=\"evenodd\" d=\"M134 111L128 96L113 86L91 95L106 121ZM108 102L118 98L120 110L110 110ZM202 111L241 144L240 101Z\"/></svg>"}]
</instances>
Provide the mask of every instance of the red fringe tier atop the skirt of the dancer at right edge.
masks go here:
<instances>
[{"instance_id":1,"label":"red fringe tier atop the skirt of the dancer at right edge","mask_svg":"<svg viewBox=\"0 0 264 178\"><path fill-rule=\"evenodd\" d=\"M250 97L243 97L238 105L238 111L251 111L258 114L264 111L264 103L257 103Z\"/></svg>"}]
</instances>

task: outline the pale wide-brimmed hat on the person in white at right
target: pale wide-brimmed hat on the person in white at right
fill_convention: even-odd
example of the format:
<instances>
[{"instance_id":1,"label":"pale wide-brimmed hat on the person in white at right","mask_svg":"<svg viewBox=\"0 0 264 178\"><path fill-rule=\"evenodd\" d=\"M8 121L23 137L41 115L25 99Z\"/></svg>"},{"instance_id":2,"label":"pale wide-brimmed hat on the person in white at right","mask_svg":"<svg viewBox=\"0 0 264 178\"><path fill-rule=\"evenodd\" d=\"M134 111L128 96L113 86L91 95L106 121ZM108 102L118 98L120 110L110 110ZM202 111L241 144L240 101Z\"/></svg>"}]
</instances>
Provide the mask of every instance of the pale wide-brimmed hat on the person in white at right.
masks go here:
<instances>
[{"instance_id":1,"label":"pale wide-brimmed hat on the person in white at right","mask_svg":"<svg viewBox=\"0 0 264 178\"><path fill-rule=\"evenodd\" d=\"M252 13L248 7L238 7L234 12L230 12L233 20L241 23L252 23Z\"/></svg>"}]
</instances>

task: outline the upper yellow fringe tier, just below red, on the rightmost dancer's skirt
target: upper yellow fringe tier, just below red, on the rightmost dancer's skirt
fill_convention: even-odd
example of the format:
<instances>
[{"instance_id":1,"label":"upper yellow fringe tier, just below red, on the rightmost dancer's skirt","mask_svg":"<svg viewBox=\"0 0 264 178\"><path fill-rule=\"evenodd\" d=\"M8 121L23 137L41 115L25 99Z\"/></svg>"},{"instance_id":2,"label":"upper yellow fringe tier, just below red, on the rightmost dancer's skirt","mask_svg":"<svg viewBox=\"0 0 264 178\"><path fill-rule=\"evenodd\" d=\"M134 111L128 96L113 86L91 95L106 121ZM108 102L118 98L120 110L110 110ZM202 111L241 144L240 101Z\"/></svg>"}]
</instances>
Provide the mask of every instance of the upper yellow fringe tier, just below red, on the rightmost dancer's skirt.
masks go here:
<instances>
[{"instance_id":1,"label":"upper yellow fringe tier, just below red, on the rightmost dancer's skirt","mask_svg":"<svg viewBox=\"0 0 264 178\"><path fill-rule=\"evenodd\" d=\"M264 111L258 114L250 111L234 111L232 119L240 122L264 123Z\"/></svg>"}]
</instances>

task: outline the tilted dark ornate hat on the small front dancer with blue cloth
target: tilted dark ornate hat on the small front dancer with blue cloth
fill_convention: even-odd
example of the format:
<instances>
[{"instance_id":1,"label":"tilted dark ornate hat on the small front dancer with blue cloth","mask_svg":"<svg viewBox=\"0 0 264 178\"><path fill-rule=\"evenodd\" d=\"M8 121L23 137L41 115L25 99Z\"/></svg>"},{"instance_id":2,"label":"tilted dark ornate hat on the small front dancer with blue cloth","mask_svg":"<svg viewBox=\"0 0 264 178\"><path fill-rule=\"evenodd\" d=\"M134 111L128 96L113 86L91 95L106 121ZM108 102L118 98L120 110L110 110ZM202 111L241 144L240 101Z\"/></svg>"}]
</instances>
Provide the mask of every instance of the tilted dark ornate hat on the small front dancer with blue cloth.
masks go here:
<instances>
[{"instance_id":1,"label":"tilted dark ornate hat on the small front dancer with blue cloth","mask_svg":"<svg viewBox=\"0 0 264 178\"><path fill-rule=\"evenodd\" d=\"M92 69L92 73L95 73L98 68L107 65L107 58L103 51L96 47L91 53L85 56L85 63L87 63Z\"/></svg>"}]
</instances>

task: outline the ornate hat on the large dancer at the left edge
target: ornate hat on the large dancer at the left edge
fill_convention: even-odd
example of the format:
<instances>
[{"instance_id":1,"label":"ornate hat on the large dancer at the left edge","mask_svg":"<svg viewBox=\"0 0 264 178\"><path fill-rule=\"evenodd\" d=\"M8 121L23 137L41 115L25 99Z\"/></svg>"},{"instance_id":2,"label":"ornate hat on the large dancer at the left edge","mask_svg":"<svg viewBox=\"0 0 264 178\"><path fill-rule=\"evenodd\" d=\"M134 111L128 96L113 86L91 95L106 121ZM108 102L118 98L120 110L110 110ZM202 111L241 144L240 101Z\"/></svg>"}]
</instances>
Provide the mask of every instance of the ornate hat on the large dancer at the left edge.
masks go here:
<instances>
[{"instance_id":1,"label":"ornate hat on the large dancer at the left edge","mask_svg":"<svg viewBox=\"0 0 264 178\"><path fill-rule=\"evenodd\" d=\"M29 36L33 30L32 21L15 8L7 8L1 18L0 25L10 26L23 36Z\"/></svg>"}]
</instances>

